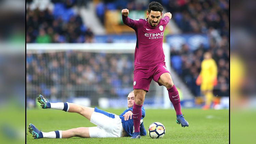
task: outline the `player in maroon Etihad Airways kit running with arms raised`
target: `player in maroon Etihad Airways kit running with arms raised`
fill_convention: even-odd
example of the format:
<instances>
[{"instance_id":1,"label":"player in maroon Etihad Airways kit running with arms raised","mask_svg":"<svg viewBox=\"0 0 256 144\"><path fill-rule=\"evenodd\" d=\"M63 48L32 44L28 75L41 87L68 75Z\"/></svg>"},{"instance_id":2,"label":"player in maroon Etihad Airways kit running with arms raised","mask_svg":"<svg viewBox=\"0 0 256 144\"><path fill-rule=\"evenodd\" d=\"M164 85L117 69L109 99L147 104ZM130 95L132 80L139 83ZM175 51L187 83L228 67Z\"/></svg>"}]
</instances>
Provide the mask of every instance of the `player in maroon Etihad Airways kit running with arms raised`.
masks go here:
<instances>
[{"instance_id":1,"label":"player in maroon Etihad Airways kit running with arms raised","mask_svg":"<svg viewBox=\"0 0 256 144\"><path fill-rule=\"evenodd\" d=\"M161 18L162 11L163 7L160 3L151 2L148 5L146 19L132 20L128 17L129 10L122 10L124 24L134 29L137 36L134 54L133 89L135 102L132 109L134 124L132 139L140 138L141 107L152 79L167 88L170 101L176 111L176 122L182 127L188 127L188 122L181 113L179 93L165 65L165 55L162 48L163 32L172 14L165 13L163 14L164 18Z\"/></svg>"}]
</instances>

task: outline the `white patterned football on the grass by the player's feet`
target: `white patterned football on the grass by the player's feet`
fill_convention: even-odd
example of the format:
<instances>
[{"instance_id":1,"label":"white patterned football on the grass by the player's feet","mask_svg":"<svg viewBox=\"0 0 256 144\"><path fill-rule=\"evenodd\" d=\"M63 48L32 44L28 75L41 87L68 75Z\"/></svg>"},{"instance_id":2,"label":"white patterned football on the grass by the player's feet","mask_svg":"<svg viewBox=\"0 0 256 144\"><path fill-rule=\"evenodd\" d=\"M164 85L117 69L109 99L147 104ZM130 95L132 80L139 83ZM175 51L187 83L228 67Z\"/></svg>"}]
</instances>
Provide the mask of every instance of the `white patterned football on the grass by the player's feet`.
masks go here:
<instances>
[{"instance_id":1,"label":"white patterned football on the grass by the player's feet","mask_svg":"<svg viewBox=\"0 0 256 144\"><path fill-rule=\"evenodd\" d=\"M154 122L148 127L148 134L152 139L162 138L165 135L165 127L159 122Z\"/></svg>"}]
</instances>

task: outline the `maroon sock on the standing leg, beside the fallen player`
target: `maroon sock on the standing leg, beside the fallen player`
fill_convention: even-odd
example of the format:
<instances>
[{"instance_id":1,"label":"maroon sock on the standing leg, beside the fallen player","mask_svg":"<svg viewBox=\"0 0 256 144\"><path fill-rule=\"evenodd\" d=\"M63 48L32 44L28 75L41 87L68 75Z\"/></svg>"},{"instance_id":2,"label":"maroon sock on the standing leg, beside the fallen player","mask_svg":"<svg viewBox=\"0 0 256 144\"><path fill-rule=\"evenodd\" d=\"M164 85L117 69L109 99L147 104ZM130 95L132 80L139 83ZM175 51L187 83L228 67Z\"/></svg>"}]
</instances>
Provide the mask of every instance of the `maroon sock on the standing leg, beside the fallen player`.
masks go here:
<instances>
[{"instance_id":1,"label":"maroon sock on the standing leg, beside the fallen player","mask_svg":"<svg viewBox=\"0 0 256 144\"><path fill-rule=\"evenodd\" d=\"M134 125L134 132L140 132L140 119L141 119L141 107L142 105L136 105L134 102L132 107L132 119Z\"/></svg>"}]
</instances>

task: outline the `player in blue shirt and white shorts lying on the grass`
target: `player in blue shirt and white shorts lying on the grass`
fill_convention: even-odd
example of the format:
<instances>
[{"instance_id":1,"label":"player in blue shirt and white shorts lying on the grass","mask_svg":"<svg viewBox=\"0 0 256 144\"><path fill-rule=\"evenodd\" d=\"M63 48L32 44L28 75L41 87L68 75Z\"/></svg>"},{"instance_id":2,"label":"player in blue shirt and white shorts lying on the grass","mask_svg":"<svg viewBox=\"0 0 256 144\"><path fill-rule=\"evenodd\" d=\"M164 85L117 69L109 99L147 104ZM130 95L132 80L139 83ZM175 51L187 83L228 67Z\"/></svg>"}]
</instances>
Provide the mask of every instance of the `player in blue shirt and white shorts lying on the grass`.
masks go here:
<instances>
[{"instance_id":1,"label":"player in blue shirt and white shorts lying on the grass","mask_svg":"<svg viewBox=\"0 0 256 144\"><path fill-rule=\"evenodd\" d=\"M39 131L33 124L29 124L28 129L34 139L40 138L117 138L131 136L134 132L132 120L132 107L135 100L134 92L130 92L127 96L126 109L119 116L113 113L102 111L98 108L89 108L79 106L69 102L52 103L44 99L42 95L38 95L38 102L41 103L43 109L58 109L66 112L79 113L89 119L89 121L97 127L80 127L69 130L56 130L51 132ZM146 130L143 125L145 110L142 107L142 117L140 122L140 135L146 135Z\"/></svg>"}]
</instances>

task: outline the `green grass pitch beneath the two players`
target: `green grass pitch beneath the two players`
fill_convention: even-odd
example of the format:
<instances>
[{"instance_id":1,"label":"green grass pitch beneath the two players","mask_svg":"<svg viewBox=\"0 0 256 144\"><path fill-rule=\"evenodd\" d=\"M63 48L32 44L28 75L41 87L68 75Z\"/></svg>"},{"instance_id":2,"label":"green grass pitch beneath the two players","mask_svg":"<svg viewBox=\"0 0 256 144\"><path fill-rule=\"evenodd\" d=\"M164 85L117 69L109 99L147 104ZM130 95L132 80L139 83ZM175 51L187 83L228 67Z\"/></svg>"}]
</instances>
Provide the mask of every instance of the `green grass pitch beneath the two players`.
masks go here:
<instances>
[{"instance_id":1,"label":"green grass pitch beneath the two players","mask_svg":"<svg viewBox=\"0 0 256 144\"><path fill-rule=\"evenodd\" d=\"M119 115L124 109L102 109ZM32 135L26 130L27 144L37 143L104 143L104 144L221 144L229 142L229 111L228 110L201 110L201 109L183 109L185 119L189 122L189 127L181 127L176 124L176 115L173 109L145 109L146 116L143 119L144 126L147 129L153 122L160 122L166 128L166 134L162 139L152 139L148 133L141 139L131 140L130 137L122 138L79 138L69 139L33 139ZM29 123L34 124L43 132L54 130L67 130L77 127L95 126L88 119L77 113L68 113L54 109L32 109L27 110L26 127Z\"/></svg>"}]
</instances>

